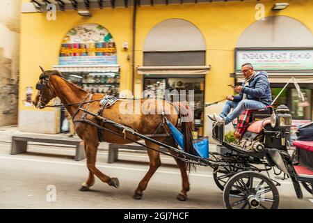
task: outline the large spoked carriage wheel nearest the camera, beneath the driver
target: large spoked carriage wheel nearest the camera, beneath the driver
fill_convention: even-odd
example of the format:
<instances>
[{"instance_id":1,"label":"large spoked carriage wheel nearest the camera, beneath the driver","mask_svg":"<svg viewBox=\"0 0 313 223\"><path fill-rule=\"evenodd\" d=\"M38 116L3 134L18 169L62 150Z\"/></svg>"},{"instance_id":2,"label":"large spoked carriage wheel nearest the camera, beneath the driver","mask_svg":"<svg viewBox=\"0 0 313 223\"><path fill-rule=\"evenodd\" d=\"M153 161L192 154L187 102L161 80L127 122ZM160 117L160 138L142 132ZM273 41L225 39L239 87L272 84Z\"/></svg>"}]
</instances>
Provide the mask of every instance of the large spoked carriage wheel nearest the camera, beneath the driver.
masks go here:
<instances>
[{"instance_id":1,"label":"large spoked carriage wheel nearest the camera, beneath the driver","mask_svg":"<svg viewBox=\"0 0 313 223\"><path fill-rule=\"evenodd\" d=\"M240 193L232 194L232 190ZM254 171L242 171L232 176L225 185L223 199L227 209L277 209L280 203L272 180Z\"/></svg>"}]
</instances>

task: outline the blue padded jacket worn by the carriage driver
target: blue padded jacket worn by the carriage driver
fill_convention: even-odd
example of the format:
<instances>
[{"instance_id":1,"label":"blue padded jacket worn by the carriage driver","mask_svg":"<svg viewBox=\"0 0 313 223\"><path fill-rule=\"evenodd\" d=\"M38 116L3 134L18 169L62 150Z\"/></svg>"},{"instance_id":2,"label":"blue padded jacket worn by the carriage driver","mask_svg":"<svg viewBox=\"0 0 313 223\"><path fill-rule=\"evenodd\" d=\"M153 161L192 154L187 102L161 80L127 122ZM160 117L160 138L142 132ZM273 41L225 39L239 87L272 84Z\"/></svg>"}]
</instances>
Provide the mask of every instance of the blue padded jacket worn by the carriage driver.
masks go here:
<instances>
[{"instance_id":1,"label":"blue padded jacket worn by the carriage driver","mask_svg":"<svg viewBox=\"0 0 313 223\"><path fill-rule=\"evenodd\" d=\"M264 105L271 105L271 87L266 71L257 72L257 75L250 80L249 86L245 86L245 82L242 86L239 95L234 96L234 102L240 102L243 99L243 93L246 93L248 100L257 100Z\"/></svg>"}]
</instances>

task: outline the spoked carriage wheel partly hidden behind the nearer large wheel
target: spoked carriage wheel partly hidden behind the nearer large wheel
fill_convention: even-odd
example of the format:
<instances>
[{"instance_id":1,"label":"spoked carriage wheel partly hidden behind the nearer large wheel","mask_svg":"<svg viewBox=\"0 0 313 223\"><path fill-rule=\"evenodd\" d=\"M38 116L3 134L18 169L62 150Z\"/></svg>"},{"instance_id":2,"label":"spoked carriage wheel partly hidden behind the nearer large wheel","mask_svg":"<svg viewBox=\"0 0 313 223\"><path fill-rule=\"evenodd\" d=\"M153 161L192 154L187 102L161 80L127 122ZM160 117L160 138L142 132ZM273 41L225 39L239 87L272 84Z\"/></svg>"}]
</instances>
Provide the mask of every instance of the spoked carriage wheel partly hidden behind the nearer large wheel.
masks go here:
<instances>
[{"instance_id":1,"label":"spoked carriage wheel partly hidden behind the nearer large wheel","mask_svg":"<svg viewBox=\"0 0 313 223\"><path fill-rule=\"evenodd\" d=\"M241 168L239 167L232 167L232 166L225 166L225 167L216 167L213 171L213 178L214 182L220 188L220 190L224 190L225 184L227 181L234 176L234 174L238 173ZM249 182L247 182L249 183ZM230 190L230 194L240 194L239 190Z\"/></svg>"}]
</instances>

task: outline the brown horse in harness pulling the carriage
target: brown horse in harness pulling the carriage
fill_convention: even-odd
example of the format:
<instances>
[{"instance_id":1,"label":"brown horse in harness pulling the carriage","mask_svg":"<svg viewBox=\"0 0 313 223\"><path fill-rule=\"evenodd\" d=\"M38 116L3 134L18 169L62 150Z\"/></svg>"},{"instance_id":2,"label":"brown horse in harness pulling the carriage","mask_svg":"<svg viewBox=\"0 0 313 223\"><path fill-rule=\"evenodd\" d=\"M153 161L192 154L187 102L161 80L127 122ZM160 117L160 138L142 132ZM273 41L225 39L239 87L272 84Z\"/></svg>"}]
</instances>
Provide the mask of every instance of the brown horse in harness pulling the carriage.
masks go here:
<instances>
[{"instance_id":1,"label":"brown horse in harness pulling the carriage","mask_svg":"<svg viewBox=\"0 0 313 223\"><path fill-rule=\"evenodd\" d=\"M92 95L92 98L88 98L88 95L90 95L88 92L84 91L83 89L79 88L78 86L75 86L70 82L67 82L66 79L63 79L61 72L58 72L57 70L44 71L42 69L42 74L40 75L38 86L40 91L38 91L38 95L36 95L36 98L33 101L33 104L36 107L40 109L45 108L51 99L58 97L61 99L61 102L63 103L63 105L65 105L65 108L71 114L72 117L74 116L75 113L77 114L75 115L75 118L81 118L84 115L84 113L81 110L79 110L79 104L74 105L70 104L83 102L83 100L86 101L97 100L94 102L90 102L89 105L86 103L83 104L82 106L82 108L85 109L88 107L89 112L97 114L98 110L100 109L99 100L101 100L104 97L103 94L95 93ZM163 105L164 109L163 111L160 110L161 109L160 106L157 106L157 103L159 103L160 101L161 105ZM124 105L134 105L134 106L139 105L141 106L141 109L139 109L140 112L137 112L138 114L121 114L120 113L120 106L122 106L121 103L124 103ZM189 112L188 114L191 114L190 109L188 109L182 103L179 103L180 111L179 114L177 114L177 112L175 111L176 109L174 105L164 100L123 99L115 102L113 106L104 109L102 116L110 119L111 121L115 121L122 125L126 125L129 128L132 128L141 134L154 134L156 130L160 129L161 131L157 133L166 132L166 130L164 130L163 128L159 128L159 125L162 122L161 115L162 112L166 114L166 118L168 118L168 121L170 121L174 125L177 124L180 114L183 113L187 114L188 112ZM93 123L99 123L99 121L94 116L87 115L86 118L88 118ZM90 123L74 123L74 126L77 135L84 142L87 158L87 167L89 170L89 177L86 180L86 182L82 184L80 190L81 191L89 190L89 188L93 186L95 183L95 176L102 180L102 182L108 183L110 186L118 187L119 186L118 178L111 178L110 176L103 174L95 166L97 148L99 146L97 127L90 125ZM115 132L121 133L121 130L113 126L110 126L109 124L105 124L105 127ZM191 128L193 128L192 121L182 122L182 130L184 133L184 139L186 141L185 151L191 154L195 154L195 151L191 146L192 144L189 144L189 142L191 142L192 139ZM139 139L138 137L135 137L134 135L128 133L127 137L135 141L138 141ZM104 139L104 141L114 144L129 144L131 142L106 130L102 132L102 139ZM175 146L177 148L175 141L172 139L172 137L152 137L152 139L156 139L157 141L164 142L170 146ZM145 141L145 144L156 150L159 149L158 145L153 144L150 141ZM174 151L169 152L172 155L175 155ZM149 155L150 158L150 169L147 171L147 174L145 174L141 182L138 184L138 187L134 192L134 199L141 199L141 197L143 196L143 191L147 187L147 183L149 182L154 172L157 171L158 167L160 167L161 165L160 155L158 151L154 151L152 149L147 148L147 154ZM182 174L182 190L177 195L177 199L184 201L186 200L187 192L189 190L186 164L182 162L182 160L179 160L177 158L175 158L175 161L177 162L177 165Z\"/></svg>"}]
</instances>

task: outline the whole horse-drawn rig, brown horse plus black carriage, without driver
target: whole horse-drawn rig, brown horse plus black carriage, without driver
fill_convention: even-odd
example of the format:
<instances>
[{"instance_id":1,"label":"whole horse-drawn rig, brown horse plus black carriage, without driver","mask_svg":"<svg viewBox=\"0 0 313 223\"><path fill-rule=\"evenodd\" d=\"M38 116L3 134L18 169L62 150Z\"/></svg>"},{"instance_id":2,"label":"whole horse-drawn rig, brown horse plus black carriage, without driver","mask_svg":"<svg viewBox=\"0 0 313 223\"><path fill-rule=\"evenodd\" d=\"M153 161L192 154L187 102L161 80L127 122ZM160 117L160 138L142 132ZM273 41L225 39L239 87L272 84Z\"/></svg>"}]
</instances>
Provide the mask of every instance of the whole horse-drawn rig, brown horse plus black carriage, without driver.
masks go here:
<instances>
[{"instance_id":1,"label":"whole horse-drawn rig, brown horse plus black carriage, without driver","mask_svg":"<svg viewBox=\"0 0 313 223\"><path fill-rule=\"evenodd\" d=\"M301 174L300 170L305 167L294 166L287 151L291 127L291 115L287 108L278 109L276 112L273 108L257 111L258 116L262 116L263 119L252 120L252 124L238 144L225 141L224 125L214 123L214 139L220 146L230 151L214 153L209 152L207 137L193 139L192 121L182 122L181 131L177 130L179 117L182 120L191 114L185 105L175 106L161 100L165 108L166 105L170 109L175 108L177 114L167 113L166 109L158 114L120 114L118 109L121 103L130 105L134 104L134 100L116 100L102 94L87 93L67 82L56 70L42 69L36 89L38 95L34 101L35 106L42 109L48 107L47 104L52 98L60 98L72 115L77 134L84 141L90 174L81 191L89 190L93 186L95 176L110 186L119 186L118 178L106 176L95 167L97 146L100 141L107 141L118 144L135 142L147 148L150 169L138 184L134 199L141 199L147 183L161 165L159 153L165 152L159 149L160 146L168 149L168 153L165 154L174 157L181 171L182 190L177 199L182 201L186 200L186 193L189 190L186 171L193 165L214 169L214 180L223 190L226 208L278 208L279 194L276 186L280 183L269 175L261 174L262 171L268 174L272 169L279 169L284 173L284 177L291 178L299 199L303 197L299 182L312 193L313 172ZM158 102L149 100L152 104L145 105L147 100L138 101L147 109ZM99 102L102 104L99 105ZM257 119L256 115L252 117ZM144 139L145 144L140 142L140 139ZM280 173L274 171L274 174Z\"/></svg>"}]
</instances>

